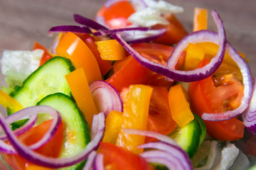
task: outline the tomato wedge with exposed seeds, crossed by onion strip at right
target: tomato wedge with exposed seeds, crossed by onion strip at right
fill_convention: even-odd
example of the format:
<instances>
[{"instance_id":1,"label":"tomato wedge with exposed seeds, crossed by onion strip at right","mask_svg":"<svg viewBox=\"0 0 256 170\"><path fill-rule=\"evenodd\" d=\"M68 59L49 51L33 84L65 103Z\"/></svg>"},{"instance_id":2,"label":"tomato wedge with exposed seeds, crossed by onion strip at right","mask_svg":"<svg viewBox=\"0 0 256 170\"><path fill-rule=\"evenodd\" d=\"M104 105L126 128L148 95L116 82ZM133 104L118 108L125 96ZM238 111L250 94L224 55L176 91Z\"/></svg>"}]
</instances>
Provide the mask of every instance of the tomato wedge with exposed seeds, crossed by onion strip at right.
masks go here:
<instances>
[{"instance_id":1,"label":"tomato wedge with exposed seeds, crossed by onion strip at right","mask_svg":"<svg viewBox=\"0 0 256 170\"><path fill-rule=\"evenodd\" d=\"M240 105L242 84L235 79L214 83L212 77L192 82L188 86L188 96L192 111L198 115L232 110ZM218 86L216 86L218 85ZM243 137L245 125L238 118L223 121L204 121L207 132L217 140L238 140Z\"/></svg>"}]
</instances>

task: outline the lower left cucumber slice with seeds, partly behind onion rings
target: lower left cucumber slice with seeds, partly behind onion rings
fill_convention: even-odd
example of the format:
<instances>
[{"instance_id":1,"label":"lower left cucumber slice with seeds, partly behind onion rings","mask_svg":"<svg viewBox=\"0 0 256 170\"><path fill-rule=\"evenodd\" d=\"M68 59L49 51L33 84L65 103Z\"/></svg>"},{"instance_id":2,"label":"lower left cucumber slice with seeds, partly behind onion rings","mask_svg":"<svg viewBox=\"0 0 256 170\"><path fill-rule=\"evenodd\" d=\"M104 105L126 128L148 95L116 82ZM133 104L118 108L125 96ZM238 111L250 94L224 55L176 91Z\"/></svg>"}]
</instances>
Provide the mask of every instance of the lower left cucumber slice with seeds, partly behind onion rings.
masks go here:
<instances>
[{"instance_id":1,"label":"lower left cucumber slice with seeds, partly behind onion rings","mask_svg":"<svg viewBox=\"0 0 256 170\"><path fill-rule=\"evenodd\" d=\"M69 96L61 93L50 94L38 102L37 105L51 106L60 112L65 128L63 147L60 151L60 157L72 157L85 149L90 142L90 130L84 115L75 102ZM46 120L41 113L38 120ZM63 169L82 169L85 162L66 167Z\"/></svg>"}]
</instances>

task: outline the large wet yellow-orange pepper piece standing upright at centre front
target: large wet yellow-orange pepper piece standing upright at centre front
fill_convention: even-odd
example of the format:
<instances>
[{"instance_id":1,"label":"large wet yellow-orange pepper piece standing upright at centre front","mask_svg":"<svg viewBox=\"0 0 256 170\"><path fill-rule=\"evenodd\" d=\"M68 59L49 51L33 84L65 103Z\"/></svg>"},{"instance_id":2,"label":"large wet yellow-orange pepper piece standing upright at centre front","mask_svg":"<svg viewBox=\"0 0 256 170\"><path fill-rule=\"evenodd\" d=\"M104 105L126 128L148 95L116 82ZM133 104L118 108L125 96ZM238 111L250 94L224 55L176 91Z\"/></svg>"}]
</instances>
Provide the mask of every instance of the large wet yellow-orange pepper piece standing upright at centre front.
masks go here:
<instances>
[{"instance_id":1,"label":"large wet yellow-orange pepper piece standing upright at centre front","mask_svg":"<svg viewBox=\"0 0 256 170\"><path fill-rule=\"evenodd\" d=\"M149 118L149 102L153 89L142 84L129 86L124 100L124 113L122 128L146 130ZM117 137L117 146L124 147L136 154L142 153L138 145L145 142L144 136L128 135L123 129Z\"/></svg>"}]
</instances>

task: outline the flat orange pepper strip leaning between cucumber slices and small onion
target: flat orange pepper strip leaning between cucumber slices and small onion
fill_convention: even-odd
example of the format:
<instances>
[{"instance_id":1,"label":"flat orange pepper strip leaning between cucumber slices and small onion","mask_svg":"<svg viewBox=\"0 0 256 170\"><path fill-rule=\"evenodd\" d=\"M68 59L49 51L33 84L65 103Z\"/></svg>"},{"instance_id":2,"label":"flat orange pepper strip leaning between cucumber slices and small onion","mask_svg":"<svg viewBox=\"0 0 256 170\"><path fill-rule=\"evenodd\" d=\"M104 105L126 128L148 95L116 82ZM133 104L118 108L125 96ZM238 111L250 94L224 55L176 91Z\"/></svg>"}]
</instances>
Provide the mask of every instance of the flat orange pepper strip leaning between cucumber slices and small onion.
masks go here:
<instances>
[{"instance_id":1,"label":"flat orange pepper strip leaning between cucumber slices and small onion","mask_svg":"<svg viewBox=\"0 0 256 170\"><path fill-rule=\"evenodd\" d=\"M93 101L84 70L82 68L76 69L74 72L65 75L65 79L75 98L75 102L78 103L78 107L83 115L85 115L85 120L87 120L91 127L93 115L97 114L98 111Z\"/></svg>"}]
</instances>

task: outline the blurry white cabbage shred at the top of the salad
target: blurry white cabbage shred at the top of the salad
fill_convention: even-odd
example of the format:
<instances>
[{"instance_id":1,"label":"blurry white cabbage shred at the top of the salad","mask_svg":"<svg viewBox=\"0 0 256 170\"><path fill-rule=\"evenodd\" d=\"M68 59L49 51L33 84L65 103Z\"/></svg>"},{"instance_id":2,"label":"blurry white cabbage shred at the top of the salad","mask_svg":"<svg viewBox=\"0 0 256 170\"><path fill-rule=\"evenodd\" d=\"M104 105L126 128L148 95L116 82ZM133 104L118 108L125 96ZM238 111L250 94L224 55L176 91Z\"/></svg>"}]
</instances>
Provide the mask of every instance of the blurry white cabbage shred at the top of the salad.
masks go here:
<instances>
[{"instance_id":1,"label":"blurry white cabbage shred at the top of the salad","mask_svg":"<svg viewBox=\"0 0 256 170\"><path fill-rule=\"evenodd\" d=\"M183 8L181 6L175 6L166 1L144 1L147 7L129 16L129 22L145 27L154 26L156 24L166 25L169 21L163 18L162 14L183 12Z\"/></svg>"}]
</instances>

